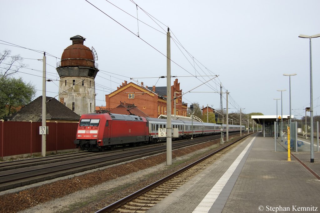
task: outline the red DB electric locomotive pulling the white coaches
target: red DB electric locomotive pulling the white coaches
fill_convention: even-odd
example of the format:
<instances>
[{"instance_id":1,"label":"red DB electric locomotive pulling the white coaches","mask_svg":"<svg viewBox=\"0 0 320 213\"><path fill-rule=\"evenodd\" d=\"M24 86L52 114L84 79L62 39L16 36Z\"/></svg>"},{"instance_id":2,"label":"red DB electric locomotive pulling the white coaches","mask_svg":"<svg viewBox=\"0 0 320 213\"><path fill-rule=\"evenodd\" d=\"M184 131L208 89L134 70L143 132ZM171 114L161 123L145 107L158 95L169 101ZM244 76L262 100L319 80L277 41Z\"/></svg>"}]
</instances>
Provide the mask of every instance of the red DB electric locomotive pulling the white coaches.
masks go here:
<instances>
[{"instance_id":1,"label":"red DB electric locomotive pulling the white coaches","mask_svg":"<svg viewBox=\"0 0 320 213\"><path fill-rule=\"evenodd\" d=\"M148 140L149 131L144 117L91 113L81 116L74 143L81 150L104 150Z\"/></svg>"}]
</instances>

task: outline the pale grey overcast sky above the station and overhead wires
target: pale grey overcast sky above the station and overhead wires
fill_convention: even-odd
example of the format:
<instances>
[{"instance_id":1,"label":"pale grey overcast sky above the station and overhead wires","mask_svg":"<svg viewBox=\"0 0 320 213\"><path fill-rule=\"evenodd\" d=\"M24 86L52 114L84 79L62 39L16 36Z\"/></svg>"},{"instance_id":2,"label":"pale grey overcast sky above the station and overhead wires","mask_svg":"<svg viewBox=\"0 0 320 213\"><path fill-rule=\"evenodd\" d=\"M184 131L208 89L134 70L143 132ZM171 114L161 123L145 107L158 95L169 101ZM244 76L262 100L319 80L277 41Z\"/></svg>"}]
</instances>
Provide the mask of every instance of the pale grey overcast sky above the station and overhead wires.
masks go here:
<instances>
[{"instance_id":1,"label":"pale grey overcast sky above the station and overhead wires","mask_svg":"<svg viewBox=\"0 0 320 213\"><path fill-rule=\"evenodd\" d=\"M183 101L219 109L220 94L213 92L220 91L222 83L223 92L230 92L229 112L242 108L244 113L276 115L273 98L281 98L277 89L286 89L283 114L288 115L289 77L283 74L296 73L291 77L292 115L304 116L310 105L309 39L298 36L320 33L319 0L88 2L1 2L0 51L10 49L12 55L26 58L29 69L14 77L35 84L36 97L42 95L42 62L34 59L42 59L43 54L9 43L55 56L47 55L47 78L59 80L56 63L72 44L70 37L83 36L84 45L93 46L98 55L96 105L105 106L104 95L130 78L149 87L166 86L166 79L158 77L166 75L169 26L171 73L179 76L183 92L219 75L186 93ZM319 115L320 38L312 39L312 59L314 115ZM56 96L58 85L58 81L47 82L47 96Z\"/></svg>"}]
</instances>

